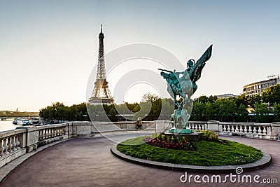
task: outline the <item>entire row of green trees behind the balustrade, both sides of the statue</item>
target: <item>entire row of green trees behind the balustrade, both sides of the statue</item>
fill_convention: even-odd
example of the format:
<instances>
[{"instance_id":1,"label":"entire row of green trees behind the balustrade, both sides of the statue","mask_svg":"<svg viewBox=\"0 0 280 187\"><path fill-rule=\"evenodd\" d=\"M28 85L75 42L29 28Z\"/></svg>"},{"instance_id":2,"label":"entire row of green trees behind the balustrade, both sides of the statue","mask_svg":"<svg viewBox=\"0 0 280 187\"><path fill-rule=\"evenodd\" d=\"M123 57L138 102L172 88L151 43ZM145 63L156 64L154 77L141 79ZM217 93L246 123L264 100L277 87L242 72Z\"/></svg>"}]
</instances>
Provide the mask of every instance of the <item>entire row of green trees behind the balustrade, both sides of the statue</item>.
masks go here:
<instances>
[{"instance_id":1,"label":"entire row of green trees behind the balustrade, both sides of the statue","mask_svg":"<svg viewBox=\"0 0 280 187\"><path fill-rule=\"evenodd\" d=\"M260 95L218 99L216 96L201 96L192 102L190 120L219 120L235 122L271 123L280 121L280 85L269 87ZM252 113L248 113L252 111ZM125 118L137 120L172 119L174 102L170 98L160 98L147 93L140 103L111 105L74 104L64 106L55 103L40 110L45 120L92 120L116 121ZM125 115L129 117L125 117ZM127 120L127 119L126 119Z\"/></svg>"}]
</instances>

